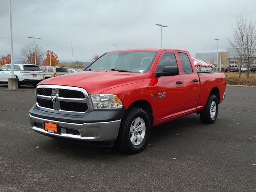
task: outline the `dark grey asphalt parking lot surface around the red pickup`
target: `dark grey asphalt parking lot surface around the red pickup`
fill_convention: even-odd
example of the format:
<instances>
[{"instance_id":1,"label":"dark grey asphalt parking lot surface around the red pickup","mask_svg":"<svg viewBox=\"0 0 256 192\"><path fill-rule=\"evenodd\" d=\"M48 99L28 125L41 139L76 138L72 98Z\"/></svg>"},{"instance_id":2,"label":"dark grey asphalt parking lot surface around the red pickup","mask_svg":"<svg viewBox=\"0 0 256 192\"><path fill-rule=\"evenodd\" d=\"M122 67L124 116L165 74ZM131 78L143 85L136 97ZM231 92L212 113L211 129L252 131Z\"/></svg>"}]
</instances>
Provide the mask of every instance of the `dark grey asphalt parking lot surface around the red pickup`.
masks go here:
<instances>
[{"instance_id":1,"label":"dark grey asphalt parking lot surface around the red pickup","mask_svg":"<svg viewBox=\"0 0 256 192\"><path fill-rule=\"evenodd\" d=\"M256 88L227 87L218 119L196 114L153 128L140 154L31 130L35 89L0 85L0 191L256 191Z\"/></svg>"}]
</instances>

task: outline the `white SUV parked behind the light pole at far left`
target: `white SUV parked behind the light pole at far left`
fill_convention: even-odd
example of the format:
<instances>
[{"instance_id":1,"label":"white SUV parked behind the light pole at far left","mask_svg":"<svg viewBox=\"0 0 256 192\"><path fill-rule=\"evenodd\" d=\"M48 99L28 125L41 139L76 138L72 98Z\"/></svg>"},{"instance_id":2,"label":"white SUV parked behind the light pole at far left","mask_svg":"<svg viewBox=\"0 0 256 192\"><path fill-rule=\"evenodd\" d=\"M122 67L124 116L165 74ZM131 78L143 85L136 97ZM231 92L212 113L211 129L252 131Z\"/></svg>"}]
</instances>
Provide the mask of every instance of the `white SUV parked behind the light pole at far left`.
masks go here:
<instances>
[{"instance_id":1,"label":"white SUV parked behind the light pole at far left","mask_svg":"<svg viewBox=\"0 0 256 192\"><path fill-rule=\"evenodd\" d=\"M8 83L11 77L11 64L6 64L0 68L0 84ZM43 80L43 74L40 68L34 64L14 64L14 76L19 80L20 85L36 85Z\"/></svg>"}]
</instances>

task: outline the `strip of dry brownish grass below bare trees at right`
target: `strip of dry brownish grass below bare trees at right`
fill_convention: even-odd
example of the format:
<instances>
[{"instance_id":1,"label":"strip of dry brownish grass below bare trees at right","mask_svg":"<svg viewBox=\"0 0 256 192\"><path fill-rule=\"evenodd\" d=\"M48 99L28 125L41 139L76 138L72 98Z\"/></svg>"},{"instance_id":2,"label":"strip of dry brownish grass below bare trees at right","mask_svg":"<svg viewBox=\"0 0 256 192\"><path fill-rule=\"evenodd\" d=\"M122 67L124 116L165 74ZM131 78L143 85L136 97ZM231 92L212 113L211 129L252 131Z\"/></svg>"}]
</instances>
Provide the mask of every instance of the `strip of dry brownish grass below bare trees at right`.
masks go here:
<instances>
[{"instance_id":1,"label":"strip of dry brownish grass below bare trees at right","mask_svg":"<svg viewBox=\"0 0 256 192\"><path fill-rule=\"evenodd\" d=\"M239 73L224 73L226 75L226 84L230 85L254 85L256 86L256 73L250 73L250 78L247 79L247 74L242 73L239 80Z\"/></svg>"}]
</instances>

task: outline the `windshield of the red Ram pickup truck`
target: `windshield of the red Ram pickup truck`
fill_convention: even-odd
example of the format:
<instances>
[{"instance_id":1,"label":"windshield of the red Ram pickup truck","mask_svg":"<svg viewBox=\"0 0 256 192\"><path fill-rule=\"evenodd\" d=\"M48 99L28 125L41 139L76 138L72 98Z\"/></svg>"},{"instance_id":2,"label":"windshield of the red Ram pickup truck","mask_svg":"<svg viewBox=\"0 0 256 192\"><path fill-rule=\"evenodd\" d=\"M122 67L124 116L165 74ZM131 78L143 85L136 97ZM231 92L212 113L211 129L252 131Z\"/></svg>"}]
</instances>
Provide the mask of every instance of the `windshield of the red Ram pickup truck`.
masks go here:
<instances>
[{"instance_id":1,"label":"windshield of the red Ram pickup truck","mask_svg":"<svg viewBox=\"0 0 256 192\"><path fill-rule=\"evenodd\" d=\"M123 72L146 73L150 69L157 51L110 52L101 56L88 70L116 70Z\"/></svg>"}]
</instances>

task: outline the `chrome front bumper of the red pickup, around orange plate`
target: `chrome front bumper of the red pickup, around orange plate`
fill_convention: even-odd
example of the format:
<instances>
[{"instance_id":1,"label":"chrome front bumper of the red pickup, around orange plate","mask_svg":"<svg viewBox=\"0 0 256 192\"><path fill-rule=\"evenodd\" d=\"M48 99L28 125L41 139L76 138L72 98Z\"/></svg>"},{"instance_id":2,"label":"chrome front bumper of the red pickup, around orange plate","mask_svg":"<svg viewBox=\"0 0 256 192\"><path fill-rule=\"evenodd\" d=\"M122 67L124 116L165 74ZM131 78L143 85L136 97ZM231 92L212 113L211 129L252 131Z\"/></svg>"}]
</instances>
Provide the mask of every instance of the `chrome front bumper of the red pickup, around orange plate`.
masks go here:
<instances>
[{"instance_id":1,"label":"chrome front bumper of the red pickup, around orange plate","mask_svg":"<svg viewBox=\"0 0 256 192\"><path fill-rule=\"evenodd\" d=\"M34 131L59 138L75 139L82 141L109 141L114 140L118 136L121 120L110 122L97 122L97 123L66 123L59 121L52 121L48 119L38 118L29 114L30 124ZM61 128L60 134L50 133L44 130L44 122L58 123ZM67 129L78 130L80 135L67 134Z\"/></svg>"}]
</instances>

